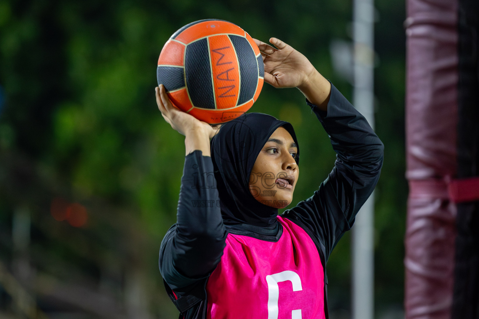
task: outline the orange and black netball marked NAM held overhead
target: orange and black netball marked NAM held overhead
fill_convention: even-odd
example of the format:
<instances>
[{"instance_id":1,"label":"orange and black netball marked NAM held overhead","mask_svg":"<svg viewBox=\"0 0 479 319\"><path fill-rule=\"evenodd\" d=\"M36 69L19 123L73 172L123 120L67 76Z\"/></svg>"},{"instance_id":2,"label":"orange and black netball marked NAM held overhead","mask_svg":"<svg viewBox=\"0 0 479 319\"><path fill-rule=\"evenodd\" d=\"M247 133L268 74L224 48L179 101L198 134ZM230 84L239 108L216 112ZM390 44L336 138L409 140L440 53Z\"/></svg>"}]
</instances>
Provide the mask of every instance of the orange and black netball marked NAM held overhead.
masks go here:
<instances>
[{"instance_id":1,"label":"orange and black netball marked NAM held overhead","mask_svg":"<svg viewBox=\"0 0 479 319\"><path fill-rule=\"evenodd\" d=\"M251 108L263 86L258 46L236 24L200 20L166 42L158 59L158 85L171 102L200 121L224 123Z\"/></svg>"}]
</instances>

